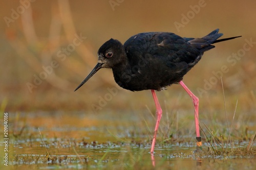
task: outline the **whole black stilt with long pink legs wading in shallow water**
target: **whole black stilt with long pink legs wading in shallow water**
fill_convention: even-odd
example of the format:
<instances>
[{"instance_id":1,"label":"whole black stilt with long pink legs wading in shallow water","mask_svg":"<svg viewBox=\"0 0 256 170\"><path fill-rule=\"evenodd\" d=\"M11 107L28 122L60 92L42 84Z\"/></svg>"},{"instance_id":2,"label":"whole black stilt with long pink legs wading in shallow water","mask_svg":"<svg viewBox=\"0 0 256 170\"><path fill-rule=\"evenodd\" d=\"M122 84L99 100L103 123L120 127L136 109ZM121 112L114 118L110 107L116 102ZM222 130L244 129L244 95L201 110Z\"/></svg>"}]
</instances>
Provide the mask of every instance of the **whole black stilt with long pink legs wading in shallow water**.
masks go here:
<instances>
[{"instance_id":1,"label":"whole black stilt with long pink legs wading in shallow water","mask_svg":"<svg viewBox=\"0 0 256 170\"><path fill-rule=\"evenodd\" d=\"M199 132L199 99L182 82L183 76L201 59L205 51L214 48L223 34L216 29L202 38L182 38L174 33L140 33L129 38L123 45L110 39L98 51L98 63L86 79L75 89L86 83L100 68L112 68L116 83L131 91L151 90L156 105L157 122L152 140L154 153L156 135L162 116L162 109L155 90L160 91L172 84L180 84L193 100L195 107L196 139L201 147ZM238 36L240 37L240 36Z\"/></svg>"}]
</instances>

